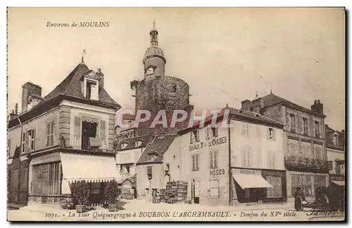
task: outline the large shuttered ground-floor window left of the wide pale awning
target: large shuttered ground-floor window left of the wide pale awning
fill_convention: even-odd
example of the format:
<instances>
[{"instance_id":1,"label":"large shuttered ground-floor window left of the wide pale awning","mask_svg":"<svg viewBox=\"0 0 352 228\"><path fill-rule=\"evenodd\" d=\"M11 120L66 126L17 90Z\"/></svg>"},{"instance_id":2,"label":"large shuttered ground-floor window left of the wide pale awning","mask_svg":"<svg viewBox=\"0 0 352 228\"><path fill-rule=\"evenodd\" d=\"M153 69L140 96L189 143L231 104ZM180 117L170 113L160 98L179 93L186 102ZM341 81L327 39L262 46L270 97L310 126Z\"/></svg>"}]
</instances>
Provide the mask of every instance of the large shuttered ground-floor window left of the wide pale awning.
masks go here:
<instances>
[{"instance_id":1,"label":"large shuttered ground-floor window left of the wide pale awning","mask_svg":"<svg viewBox=\"0 0 352 228\"><path fill-rule=\"evenodd\" d=\"M61 163L46 163L33 166L32 194L61 194Z\"/></svg>"}]
</instances>

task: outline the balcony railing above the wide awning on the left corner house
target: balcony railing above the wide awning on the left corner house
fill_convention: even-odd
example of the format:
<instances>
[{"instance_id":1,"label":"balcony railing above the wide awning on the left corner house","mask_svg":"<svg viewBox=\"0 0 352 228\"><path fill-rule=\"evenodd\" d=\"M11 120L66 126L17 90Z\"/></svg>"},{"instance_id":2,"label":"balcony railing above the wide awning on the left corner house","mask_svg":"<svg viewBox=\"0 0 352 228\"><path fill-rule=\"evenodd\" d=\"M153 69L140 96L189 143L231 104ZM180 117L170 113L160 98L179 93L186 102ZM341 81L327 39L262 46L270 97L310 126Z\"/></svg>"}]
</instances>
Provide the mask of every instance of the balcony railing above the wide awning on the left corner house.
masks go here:
<instances>
[{"instance_id":1,"label":"balcony railing above the wide awning on the left corner house","mask_svg":"<svg viewBox=\"0 0 352 228\"><path fill-rule=\"evenodd\" d=\"M83 149L106 152L108 138L82 137L82 135L60 135L58 138L60 148Z\"/></svg>"}]
</instances>

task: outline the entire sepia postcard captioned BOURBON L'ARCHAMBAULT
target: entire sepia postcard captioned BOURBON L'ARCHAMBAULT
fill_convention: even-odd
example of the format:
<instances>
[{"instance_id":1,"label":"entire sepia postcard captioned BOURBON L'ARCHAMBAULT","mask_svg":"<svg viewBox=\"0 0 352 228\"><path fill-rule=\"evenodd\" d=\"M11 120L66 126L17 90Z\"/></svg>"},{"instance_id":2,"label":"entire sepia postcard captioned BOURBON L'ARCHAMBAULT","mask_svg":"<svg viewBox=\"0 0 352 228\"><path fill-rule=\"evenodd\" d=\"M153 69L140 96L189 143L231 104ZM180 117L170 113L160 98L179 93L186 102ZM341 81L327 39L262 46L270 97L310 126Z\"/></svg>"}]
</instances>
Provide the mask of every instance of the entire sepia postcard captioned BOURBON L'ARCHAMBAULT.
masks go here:
<instances>
[{"instance_id":1,"label":"entire sepia postcard captioned BOURBON L'ARCHAMBAULT","mask_svg":"<svg viewBox=\"0 0 352 228\"><path fill-rule=\"evenodd\" d=\"M8 221L344 221L345 13L8 8Z\"/></svg>"}]
</instances>

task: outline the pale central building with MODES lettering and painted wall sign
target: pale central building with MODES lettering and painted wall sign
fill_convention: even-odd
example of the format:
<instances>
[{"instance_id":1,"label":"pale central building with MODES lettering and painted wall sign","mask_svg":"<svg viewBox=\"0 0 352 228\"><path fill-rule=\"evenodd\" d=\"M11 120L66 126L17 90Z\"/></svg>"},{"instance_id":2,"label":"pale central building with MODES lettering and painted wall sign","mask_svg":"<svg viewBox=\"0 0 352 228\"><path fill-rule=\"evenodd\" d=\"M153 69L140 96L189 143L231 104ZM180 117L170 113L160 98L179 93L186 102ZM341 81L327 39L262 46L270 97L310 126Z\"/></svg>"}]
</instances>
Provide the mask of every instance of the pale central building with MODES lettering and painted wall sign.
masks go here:
<instances>
[{"instance_id":1,"label":"pale central building with MODES lettering and painted wall sign","mask_svg":"<svg viewBox=\"0 0 352 228\"><path fill-rule=\"evenodd\" d=\"M230 117L225 123L230 121L232 128L222 127L226 109ZM282 124L229 107L215 126L207 119L203 127L185 128L168 140L158 163L149 161L152 156L140 160L137 188L165 189L167 182L182 180L188 182L192 203L286 201Z\"/></svg>"}]
</instances>

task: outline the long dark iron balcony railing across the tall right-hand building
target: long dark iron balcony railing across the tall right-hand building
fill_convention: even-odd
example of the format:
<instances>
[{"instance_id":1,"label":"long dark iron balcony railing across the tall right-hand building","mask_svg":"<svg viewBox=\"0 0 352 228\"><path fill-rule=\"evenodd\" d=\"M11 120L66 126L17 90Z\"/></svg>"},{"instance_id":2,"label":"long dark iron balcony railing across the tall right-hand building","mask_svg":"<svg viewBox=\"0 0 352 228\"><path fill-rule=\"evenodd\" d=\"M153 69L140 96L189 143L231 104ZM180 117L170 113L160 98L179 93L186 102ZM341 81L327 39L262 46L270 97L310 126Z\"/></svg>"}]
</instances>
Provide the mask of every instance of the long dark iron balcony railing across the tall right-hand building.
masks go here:
<instances>
[{"instance_id":1,"label":"long dark iron balcony railing across the tall right-hand building","mask_svg":"<svg viewBox=\"0 0 352 228\"><path fill-rule=\"evenodd\" d=\"M329 170L329 165L325 159L307 158L303 156L285 156L285 166L310 170Z\"/></svg>"}]
</instances>

